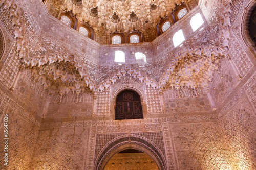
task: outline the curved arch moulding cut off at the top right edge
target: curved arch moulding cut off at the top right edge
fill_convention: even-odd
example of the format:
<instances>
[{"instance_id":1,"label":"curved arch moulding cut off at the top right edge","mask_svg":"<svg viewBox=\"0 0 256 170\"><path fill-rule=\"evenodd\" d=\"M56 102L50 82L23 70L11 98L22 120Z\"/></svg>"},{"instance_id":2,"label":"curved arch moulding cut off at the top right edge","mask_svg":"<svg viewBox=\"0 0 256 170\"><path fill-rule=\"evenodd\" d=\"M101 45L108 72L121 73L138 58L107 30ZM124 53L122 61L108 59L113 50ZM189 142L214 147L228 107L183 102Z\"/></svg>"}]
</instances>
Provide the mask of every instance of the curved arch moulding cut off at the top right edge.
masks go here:
<instances>
[{"instance_id":1,"label":"curved arch moulding cut off at the top right edge","mask_svg":"<svg viewBox=\"0 0 256 170\"><path fill-rule=\"evenodd\" d=\"M248 27L249 27L249 21L252 16L252 13L254 13L255 12L254 10L256 10L255 8L256 8L255 1L252 1L252 0L249 1L242 16L242 30L241 30L242 37L245 44L247 45L247 47L250 48L251 51L254 51L254 54L256 53L256 46L250 36Z\"/></svg>"}]
</instances>

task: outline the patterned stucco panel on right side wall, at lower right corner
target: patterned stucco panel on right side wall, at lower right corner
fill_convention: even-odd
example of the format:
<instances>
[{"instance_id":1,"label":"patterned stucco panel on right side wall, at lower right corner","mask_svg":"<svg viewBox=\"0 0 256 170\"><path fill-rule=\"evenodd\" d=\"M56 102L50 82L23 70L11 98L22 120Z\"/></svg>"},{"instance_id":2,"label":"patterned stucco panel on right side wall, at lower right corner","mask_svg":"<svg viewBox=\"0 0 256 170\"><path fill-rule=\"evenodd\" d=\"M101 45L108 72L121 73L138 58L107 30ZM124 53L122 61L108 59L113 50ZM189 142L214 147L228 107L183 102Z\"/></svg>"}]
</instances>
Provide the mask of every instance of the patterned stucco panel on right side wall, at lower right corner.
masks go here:
<instances>
[{"instance_id":1,"label":"patterned stucco panel on right side wall, at lower right corner","mask_svg":"<svg viewBox=\"0 0 256 170\"><path fill-rule=\"evenodd\" d=\"M221 120L234 169L256 169L256 116L244 98Z\"/></svg>"}]
</instances>

